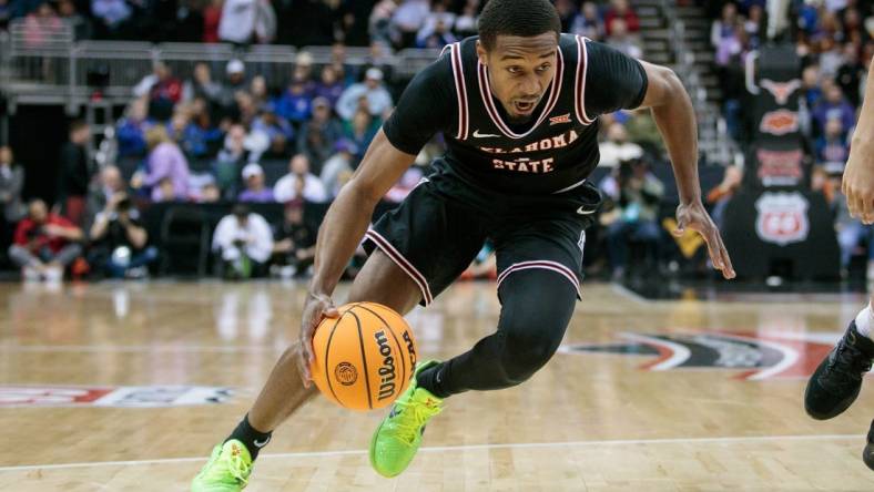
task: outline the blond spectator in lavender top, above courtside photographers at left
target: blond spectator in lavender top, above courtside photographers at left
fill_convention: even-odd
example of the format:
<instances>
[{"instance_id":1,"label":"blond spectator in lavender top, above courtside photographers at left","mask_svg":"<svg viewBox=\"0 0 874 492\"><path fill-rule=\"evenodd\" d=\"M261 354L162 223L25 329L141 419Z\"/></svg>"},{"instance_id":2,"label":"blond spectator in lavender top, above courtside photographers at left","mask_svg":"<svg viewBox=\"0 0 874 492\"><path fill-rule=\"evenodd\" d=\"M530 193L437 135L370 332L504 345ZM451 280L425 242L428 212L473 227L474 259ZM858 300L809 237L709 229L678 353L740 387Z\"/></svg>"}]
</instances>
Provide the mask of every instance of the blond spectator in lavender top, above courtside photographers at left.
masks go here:
<instances>
[{"instance_id":1,"label":"blond spectator in lavender top, above courtside photographers at left","mask_svg":"<svg viewBox=\"0 0 874 492\"><path fill-rule=\"evenodd\" d=\"M155 126L145 134L149 158L145 172L131 180L134 189L149 189L153 202L185 201L189 196L189 161L179 145L170 140L166 129Z\"/></svg>"}]
</instances>

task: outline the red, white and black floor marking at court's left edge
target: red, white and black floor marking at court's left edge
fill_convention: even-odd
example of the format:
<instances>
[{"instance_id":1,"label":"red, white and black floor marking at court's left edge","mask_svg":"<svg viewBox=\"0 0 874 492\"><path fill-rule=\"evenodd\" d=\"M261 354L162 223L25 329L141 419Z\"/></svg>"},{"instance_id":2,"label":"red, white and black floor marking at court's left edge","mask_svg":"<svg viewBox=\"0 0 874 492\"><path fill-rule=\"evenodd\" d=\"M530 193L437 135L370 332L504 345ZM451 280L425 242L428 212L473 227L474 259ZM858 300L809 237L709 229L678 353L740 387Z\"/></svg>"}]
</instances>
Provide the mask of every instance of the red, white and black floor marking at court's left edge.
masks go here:
<instances>
[{"instance_id":1,"label":"red, white and black floor marking at court's left edge","mask_svg":"<svg viewBox=\"0 0 874 492\"><path fill-rule=\"evenodd\" d=\"M203 386L126 386L113 388L0 386L3 407L181 407L223 403L230 388Z\"/></svg>"}]
</instances>

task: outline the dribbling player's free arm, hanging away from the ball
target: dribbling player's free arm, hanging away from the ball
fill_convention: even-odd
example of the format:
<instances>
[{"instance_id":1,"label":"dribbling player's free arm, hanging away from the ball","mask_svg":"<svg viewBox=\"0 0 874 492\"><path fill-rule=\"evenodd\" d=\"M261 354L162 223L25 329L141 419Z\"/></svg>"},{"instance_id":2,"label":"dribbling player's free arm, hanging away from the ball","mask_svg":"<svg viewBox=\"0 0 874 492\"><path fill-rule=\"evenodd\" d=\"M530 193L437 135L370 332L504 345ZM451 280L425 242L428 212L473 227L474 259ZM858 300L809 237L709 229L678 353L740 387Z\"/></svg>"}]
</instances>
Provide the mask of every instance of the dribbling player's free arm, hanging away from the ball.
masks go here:
<instances>
[{"instance_id":1,"label":"dribbling player's free arm, hanging away from the ball","mask_svg":"<svg viewBox=\"0 0 874 492\"><path fill-rule=\"evenodd\" d=\"M701 203L698 181L698 126L692 101L672 70L641 61L649 81L641 106L650 107L668 154L671 157L680 206L677 207L677 230L688 227L704 238L713 267L725 278L734 278L734 268L719 229Z\"/></svg>"}]
</instances>

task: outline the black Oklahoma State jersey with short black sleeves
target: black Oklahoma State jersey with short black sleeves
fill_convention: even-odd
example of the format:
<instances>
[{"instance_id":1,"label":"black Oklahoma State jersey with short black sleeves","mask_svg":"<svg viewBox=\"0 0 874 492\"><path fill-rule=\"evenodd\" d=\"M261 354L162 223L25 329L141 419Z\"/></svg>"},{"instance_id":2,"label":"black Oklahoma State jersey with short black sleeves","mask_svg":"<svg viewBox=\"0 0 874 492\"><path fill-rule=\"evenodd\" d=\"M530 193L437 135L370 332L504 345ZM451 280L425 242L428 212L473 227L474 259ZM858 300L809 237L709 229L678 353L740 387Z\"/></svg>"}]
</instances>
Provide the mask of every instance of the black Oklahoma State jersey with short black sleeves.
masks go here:
<instances>
[{"instance_id":1,"label":"black Oklahoma State jersey with short black sleeves","mask_svg":"<svg viewBox=\"0 0 874 492\"><path fill-rule=\"evenodd\" d=\"M409 83L383 130L417 154L437 132L443 160L461 178L504 193L560 193L598 165L598 116L640 105L647 74L634 59L586 38L561 34L556 78L521 127L507 122L479 63L477 38L449 44Z\"/></svg>"}]
</instances>

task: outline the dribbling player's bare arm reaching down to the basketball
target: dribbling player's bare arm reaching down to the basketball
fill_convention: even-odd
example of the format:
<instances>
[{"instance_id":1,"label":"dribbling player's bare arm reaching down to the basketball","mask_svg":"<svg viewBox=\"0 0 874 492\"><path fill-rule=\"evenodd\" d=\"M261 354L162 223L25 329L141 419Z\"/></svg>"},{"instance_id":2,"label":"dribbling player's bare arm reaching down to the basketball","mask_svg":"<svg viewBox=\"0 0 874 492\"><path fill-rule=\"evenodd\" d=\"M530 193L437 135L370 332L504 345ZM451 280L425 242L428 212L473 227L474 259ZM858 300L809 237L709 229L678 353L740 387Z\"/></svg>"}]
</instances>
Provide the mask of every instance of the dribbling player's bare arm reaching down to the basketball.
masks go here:
<instances>
[{"instance_id":1,"label":"dribbling player's bare arm reaching down to the basketball","mask_svg":"<svg viewBox=\"0 0 874 492\"><path fill-rule=\"evenodd\" d=\"M367 232L376 204L415 158L415 155L395 148L380 130L352 181L341 189L322 222L316 240L315 273L301 321L303 351L299 365L306 387L309 386L309 365L314 359L313 332L323 317L337 316L331 295Z\"/></svg>"}]
</instances>

